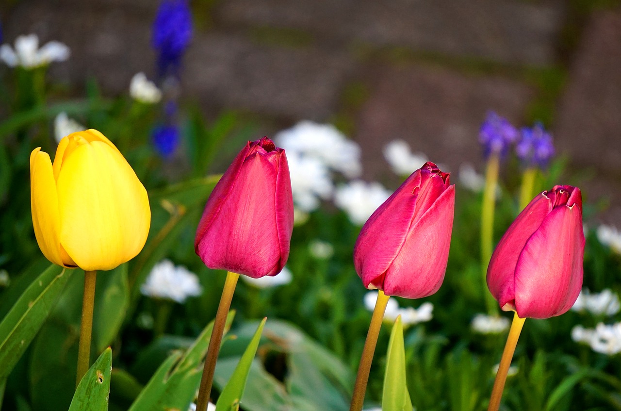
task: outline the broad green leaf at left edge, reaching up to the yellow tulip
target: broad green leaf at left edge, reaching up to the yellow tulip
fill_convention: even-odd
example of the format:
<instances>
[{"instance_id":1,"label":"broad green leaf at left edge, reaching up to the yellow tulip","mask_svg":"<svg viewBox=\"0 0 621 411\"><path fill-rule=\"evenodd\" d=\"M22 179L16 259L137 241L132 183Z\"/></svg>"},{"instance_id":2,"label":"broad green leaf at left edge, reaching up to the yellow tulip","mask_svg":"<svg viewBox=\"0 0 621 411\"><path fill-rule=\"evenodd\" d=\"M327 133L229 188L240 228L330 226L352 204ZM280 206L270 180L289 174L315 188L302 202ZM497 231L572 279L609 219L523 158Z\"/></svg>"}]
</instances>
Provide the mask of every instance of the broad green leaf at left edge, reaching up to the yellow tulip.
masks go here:
<instances>
[{"instance_id":1,"label":"broad green leaf at left edge, reaching up to the yellow tulip","mask_svg":"<svg viewBox=\"0 0 621 411\"><path fill-rule=\"evenodd\" d=\"M0 323L0 381L37 335L73 270L52 264L25 290Z\"/></svg>"}]
</instances>

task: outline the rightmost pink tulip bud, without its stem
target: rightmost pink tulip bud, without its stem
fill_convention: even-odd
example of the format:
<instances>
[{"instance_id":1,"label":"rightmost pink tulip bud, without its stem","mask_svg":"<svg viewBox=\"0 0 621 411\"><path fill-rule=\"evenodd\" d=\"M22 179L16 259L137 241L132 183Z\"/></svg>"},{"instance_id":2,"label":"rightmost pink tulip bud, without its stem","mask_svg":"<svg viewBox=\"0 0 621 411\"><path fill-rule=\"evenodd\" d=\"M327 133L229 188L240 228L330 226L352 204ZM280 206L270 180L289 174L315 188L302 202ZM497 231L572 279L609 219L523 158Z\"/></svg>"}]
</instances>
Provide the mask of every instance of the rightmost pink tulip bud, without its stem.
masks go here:
<instances>
[{"instance_id":1,"label":"rightmost pink tulip bud, without its stem","mask_svg":"<svg viewBox=\"0 0 621 411\"><path fill-rule=\"evenodd\" d=\"M561 315L582 287L582 195L555 186L538 194L498 243L487 287L501 308L520 318Z\"/></svg>"}]
</instances>

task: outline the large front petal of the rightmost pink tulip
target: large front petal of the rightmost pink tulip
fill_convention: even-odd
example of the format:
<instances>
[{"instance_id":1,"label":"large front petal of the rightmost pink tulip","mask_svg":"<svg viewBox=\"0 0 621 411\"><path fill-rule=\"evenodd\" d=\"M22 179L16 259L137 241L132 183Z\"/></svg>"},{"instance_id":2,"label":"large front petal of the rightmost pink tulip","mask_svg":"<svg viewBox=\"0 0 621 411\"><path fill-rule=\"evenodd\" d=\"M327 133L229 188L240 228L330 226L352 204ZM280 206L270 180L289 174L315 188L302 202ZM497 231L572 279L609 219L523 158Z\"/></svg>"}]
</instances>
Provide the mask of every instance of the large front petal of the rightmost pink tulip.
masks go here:
<instances>
[{"instance_id":1,"label":"large front petal of the rightmost pink tulip","mask_svg":"<svg viewBox=\"0 0 621 411\"><path fill-rule=\"evenodd\" d=\"M582 287L583 250L580 208L551 210L515 268L515 309L520 317L549 318L569 310Z\"/></svg>"}]
</instances>

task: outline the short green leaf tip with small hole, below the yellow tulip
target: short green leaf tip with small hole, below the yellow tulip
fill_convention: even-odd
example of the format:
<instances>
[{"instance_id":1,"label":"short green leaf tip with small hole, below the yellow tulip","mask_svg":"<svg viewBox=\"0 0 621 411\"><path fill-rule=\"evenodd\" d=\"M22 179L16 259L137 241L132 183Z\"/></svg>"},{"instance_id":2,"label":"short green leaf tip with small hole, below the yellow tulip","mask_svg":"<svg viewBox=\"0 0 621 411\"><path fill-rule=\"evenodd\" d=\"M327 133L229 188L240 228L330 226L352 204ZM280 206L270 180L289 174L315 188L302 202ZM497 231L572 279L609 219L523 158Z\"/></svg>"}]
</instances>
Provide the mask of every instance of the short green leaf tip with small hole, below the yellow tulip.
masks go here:
<instances>
[{"instance_id":1,"label":"short green leaf tip with small hole, below the yellow tulip","mask_svg":"<svg viewBox=\"0 0 621 411\"><path fill-rule=\"evenodd\" d=\"M82 377L69 411L107 411L111 374L112 349L108 347Z\"/></svg>"}]
</instances>

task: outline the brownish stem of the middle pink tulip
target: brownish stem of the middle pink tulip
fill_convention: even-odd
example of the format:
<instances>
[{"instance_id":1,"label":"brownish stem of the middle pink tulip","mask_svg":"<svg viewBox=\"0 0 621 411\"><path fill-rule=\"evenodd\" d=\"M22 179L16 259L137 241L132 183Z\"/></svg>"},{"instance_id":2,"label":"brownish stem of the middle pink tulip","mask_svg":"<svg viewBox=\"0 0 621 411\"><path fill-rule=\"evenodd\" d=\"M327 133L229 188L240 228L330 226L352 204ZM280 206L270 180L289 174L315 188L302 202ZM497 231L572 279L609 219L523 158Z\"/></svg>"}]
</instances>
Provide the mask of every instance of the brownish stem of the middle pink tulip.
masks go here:
<instances>
[{"instance_id":1,"label":"brownish stem of the middle pink tulip","mask_svg":"<svg viewBox=\"0 0 621 411\"><path fill-rule=\"evenodd\" d=\"M379 330L384 320L386 304L388 304L388 299L390 298L386 296L383 291L378 291L378 299L375 302L375 308L371 316L369 331L366 334L365 347L362 350L358 374L356 375L356 382L353 386L353 394L351 394L350 411L361 411L365 402L366 384L369 381L371 362L373 362L373 354L375 353L375 346L378 343Z\"/></svg>"}]
</instances>

